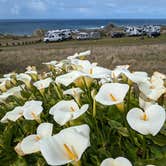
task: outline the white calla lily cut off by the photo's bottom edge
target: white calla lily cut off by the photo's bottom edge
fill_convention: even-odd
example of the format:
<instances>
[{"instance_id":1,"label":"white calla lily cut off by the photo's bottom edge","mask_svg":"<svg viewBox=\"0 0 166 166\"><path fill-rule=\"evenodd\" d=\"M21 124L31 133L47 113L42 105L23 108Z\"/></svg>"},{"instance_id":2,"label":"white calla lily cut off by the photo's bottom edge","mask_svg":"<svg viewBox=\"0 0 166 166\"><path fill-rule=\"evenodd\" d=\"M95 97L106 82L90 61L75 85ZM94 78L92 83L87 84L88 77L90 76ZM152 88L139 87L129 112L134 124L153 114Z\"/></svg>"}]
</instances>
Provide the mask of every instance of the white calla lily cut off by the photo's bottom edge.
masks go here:
<instances>
[{"instance_id":1,"label":"white calla lily cut off by the photo's bottom edge","mask_svg":"<svg viewBox=\"0 0 166 166\"><path fill-rule=\"evenodd\" d=\"M103 160L100 166L132 166L132 164L124 157L117 157L116 159L107 158Z\"/></svg>"}]
</instances>

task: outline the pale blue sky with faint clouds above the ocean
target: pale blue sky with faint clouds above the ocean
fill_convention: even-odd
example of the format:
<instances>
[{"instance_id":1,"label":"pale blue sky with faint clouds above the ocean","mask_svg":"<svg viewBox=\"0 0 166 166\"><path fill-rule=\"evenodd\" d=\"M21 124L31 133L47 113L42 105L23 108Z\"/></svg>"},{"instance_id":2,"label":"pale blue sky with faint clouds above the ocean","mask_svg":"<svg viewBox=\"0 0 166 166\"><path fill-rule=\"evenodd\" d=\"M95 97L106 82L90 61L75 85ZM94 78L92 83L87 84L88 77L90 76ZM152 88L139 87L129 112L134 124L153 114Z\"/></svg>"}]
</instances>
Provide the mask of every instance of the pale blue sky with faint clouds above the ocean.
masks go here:
<instances>
[{"instance_id":1,"label":"pale blue sky with faint clouds above the ocean","mask_svg":"<svg viewBox=\"0 0 166 166\"><path fill-rule=\"evenodd\" d=\"M0 0L0 19L166 18L166 0Z\"/></svg>"}]
</instances>

